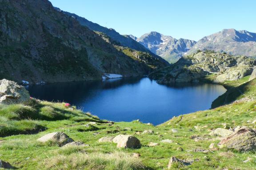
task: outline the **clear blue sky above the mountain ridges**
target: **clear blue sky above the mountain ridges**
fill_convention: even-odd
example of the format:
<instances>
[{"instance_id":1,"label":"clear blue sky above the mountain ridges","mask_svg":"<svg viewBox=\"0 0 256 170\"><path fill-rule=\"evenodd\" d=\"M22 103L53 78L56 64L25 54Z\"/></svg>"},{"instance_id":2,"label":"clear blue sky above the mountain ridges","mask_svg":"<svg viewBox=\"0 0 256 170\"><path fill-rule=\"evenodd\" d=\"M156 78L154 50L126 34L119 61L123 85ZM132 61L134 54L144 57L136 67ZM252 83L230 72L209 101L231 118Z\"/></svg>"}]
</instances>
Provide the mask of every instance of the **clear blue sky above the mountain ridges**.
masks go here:
<instances>
[{"instance_id":1,"label":"clear blue sky above the mountain ridges","mask_svg":"<svg viewBox=\"0 0 256 170\"><path fill-rule=\"evenodd\" d=\"M120 34L199 40L224 28L256 32L256 0L50 0Z\"/></svg>"}]
</instances>

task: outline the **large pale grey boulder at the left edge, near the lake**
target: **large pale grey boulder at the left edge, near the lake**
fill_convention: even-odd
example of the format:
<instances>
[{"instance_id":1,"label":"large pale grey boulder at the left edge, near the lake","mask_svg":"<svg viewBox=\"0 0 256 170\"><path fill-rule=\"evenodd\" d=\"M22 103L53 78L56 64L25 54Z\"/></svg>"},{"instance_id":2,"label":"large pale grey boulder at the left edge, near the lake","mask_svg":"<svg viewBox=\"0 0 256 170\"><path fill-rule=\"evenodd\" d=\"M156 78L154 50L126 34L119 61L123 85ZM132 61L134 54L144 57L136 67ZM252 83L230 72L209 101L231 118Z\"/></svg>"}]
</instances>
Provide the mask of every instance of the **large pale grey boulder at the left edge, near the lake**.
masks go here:
<instances>
[{"instance_id":1,"label":"large pale grey boulder at the left edge, near the lake","mask_svg":"<svg viewBox=\"0 0 256 170\"><path fill-rule=\"evenodd\" d=\"M17 104L28 102L28 90L14 81L0 80L0 104Z\"/></svg>"}]
</instances>

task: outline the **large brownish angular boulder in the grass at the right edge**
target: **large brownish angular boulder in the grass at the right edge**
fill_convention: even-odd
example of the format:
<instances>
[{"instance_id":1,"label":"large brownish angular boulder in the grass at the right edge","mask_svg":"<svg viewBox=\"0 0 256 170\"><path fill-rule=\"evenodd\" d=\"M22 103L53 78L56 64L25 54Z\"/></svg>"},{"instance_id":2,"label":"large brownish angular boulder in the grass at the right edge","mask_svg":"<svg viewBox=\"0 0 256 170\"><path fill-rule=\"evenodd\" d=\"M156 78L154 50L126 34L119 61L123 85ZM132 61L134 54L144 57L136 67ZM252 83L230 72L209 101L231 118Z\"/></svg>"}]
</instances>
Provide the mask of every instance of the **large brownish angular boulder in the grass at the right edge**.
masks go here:
<instances>
[{"instance_id":1,"label":"large brownish angular boulder in the grass at the right edge","mask_svg":"<svg viewBox=\"0 0 256 170\"><path fill-rule=\"evenodd\" d=\"M251 128L242 127L232 135L218 143L219 147L227 147L237 151L252 151L256 149L256 132Z\"/></svg>"}]
</instances>

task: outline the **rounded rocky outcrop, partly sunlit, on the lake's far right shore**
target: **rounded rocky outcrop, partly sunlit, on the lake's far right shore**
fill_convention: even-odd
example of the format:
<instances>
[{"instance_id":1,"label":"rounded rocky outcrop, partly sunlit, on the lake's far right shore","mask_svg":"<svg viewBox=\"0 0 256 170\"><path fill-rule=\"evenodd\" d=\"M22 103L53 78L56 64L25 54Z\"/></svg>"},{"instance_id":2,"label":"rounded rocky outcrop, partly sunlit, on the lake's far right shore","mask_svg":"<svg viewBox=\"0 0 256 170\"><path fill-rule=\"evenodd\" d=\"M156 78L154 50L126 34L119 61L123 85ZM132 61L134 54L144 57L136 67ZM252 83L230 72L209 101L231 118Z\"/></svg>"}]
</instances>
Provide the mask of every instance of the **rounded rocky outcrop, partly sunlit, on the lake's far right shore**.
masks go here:
<instances>
[{"instance_id":1,"label":"rounded rocky outcrop, partly sunlit, on the lake's far right shore","mask_svg":"<svg viewBox=\"0 0 256 170\"><path fill-rule=\"evenodd\" d=\"M256 60L213 51L202 51L183 56L171 66L153 72L149 77L160 84L199 82L212 73L218 73L215 82L238 80L252 73Z\"/></svg>"}]
</instances>

